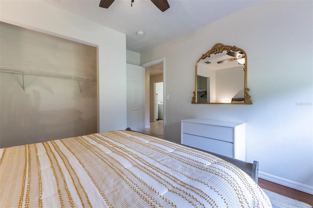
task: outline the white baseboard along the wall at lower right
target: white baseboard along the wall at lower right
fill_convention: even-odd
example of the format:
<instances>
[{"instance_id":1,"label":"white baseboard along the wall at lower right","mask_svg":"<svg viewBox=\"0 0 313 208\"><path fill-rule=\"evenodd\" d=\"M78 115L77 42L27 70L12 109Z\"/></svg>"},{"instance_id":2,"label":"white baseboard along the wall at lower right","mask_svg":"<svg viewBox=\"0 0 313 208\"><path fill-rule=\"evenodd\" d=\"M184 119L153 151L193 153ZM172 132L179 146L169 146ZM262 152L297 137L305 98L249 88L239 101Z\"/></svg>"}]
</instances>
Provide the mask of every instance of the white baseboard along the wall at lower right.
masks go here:
<instances>
[{"instance_id":1,"label":"white baseboard along the wall at lower right","mask_svg":"<svg viewBox=\"0 0 313 208\"><path fill-rule=\"evenodd\" d=\"M293 188L293 189L296 189L296 190L299 190L302 192L313 194L313 187L310 187L310 186L305 185L305 184L300 184L298 182L294 182L294 181L291 181L288 179L280 178L280 177L277 177L274 175L270 175L270 174L265 173L265 172L259 171L259 178L273 182L275 184L280 184L280 185L285 186L285 187L290 187L290 188Z\"/></svg>"}]
</instances>

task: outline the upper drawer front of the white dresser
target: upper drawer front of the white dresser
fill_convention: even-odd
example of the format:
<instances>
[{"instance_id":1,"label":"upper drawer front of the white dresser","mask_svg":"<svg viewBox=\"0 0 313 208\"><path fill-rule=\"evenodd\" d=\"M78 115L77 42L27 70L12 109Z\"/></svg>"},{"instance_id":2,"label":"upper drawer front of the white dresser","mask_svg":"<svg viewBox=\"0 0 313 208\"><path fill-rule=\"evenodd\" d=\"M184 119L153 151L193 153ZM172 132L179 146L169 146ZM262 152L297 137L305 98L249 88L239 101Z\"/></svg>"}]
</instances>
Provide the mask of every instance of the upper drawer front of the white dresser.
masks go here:
<instances>
[{"instance_id":1,"label":"upper drawer front of the white dresser","mask_svg":"<svg viewBox=\"0 0 313 208\"><path fill-rule=\"evenodd\" d=\"M186 134L198 135L230 143L234 142L234 130L231 127L182 122L181 130L182 133Z\"/></svg>"}]
</instances>

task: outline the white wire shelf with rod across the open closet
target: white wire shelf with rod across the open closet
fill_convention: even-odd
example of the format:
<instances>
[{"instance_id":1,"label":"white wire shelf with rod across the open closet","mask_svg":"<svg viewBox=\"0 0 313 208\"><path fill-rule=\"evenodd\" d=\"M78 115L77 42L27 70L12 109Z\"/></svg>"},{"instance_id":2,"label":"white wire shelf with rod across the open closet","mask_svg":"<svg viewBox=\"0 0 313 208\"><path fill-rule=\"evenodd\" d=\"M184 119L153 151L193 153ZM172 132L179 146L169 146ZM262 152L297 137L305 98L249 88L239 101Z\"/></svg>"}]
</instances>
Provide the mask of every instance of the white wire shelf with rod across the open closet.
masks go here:
<instances>
[{"instance_id":1,"label":"white wire shelf with rod across the open closet","mask_svg":"<svg viewBox=\"0 0 313 208\"><path fill-rule=\"evenodd\" d=\"M93 77L58 74L58 73L45 72L45 71L34 71L34 70L29 70L29 69L21 69L21 68L14 68L14 67L8 67L8 66L0 66L0 72L7 72L7 73L12 73L12 74L23 74L23 75L26 74L26 75L52 77L52 78L62 78L62 79L67 79L67 80L96 82L96 79Z\"/></svg>"}]
</instances>

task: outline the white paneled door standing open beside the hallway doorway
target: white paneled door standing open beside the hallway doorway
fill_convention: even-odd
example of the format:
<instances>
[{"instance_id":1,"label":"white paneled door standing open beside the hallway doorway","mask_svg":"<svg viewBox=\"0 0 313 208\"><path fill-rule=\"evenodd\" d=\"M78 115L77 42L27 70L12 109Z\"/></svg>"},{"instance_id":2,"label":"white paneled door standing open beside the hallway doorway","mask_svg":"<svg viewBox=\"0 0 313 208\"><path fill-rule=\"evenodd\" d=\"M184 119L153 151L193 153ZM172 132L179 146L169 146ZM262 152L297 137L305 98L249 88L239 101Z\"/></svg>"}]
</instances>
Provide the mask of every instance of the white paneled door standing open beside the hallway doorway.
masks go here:
<instances>
[{"instance_id":1,"label":"white paneled door standing open beside the hallway doorway","mask_svg":"<svg viewBox=\"0 0 313 208\"><path fill-rule=\"evenodd\" d=\"M127 127L144 132L144 68L126 64Z\"/></svg>"}]
</instances>

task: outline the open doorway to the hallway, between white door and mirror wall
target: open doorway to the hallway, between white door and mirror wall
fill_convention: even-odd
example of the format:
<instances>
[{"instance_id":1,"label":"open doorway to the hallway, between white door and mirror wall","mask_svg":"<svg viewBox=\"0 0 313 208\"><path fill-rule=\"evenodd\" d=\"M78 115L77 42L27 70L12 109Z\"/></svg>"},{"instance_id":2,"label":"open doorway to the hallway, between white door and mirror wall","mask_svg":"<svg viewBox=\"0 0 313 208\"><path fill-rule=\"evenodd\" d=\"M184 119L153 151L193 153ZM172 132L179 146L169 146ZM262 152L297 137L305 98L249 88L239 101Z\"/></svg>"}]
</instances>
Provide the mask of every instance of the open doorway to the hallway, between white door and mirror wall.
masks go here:
<instances>
[{"instance_id":1,"label":"open doorway to the hallway, between white door and mirror wall","mask_svg":"<svg viewBox=\"0 0 313 208\"><path fill-rule=\"evenodd\" d=\"M145 67L145 133L164 137L165 125L165 59L143 64Z\"/></svg>"}]
</instances>

